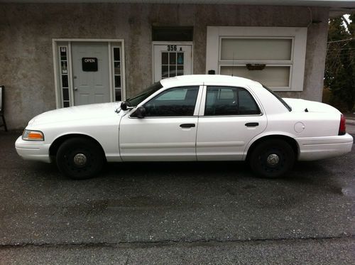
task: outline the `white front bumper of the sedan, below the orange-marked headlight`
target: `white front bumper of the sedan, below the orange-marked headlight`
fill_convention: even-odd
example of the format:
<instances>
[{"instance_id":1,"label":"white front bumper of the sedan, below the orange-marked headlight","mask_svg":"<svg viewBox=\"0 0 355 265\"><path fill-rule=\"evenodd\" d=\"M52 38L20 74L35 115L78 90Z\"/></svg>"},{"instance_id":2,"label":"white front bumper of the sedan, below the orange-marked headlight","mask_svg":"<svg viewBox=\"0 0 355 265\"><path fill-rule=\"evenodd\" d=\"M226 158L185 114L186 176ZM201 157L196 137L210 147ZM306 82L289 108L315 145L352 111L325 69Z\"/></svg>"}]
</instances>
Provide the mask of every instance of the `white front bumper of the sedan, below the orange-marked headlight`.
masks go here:
<instances>
[{"instance_id":1,"label":"white front bumper of the sedan, below the orange-marked headlight","mask_svg":"<svg viewBox=\"0 0 355 265\"><path fill-rule=\"evenodd\" d=\"M16 152L26 160L52 162L49 156L50 144L43 141L23 141L22 136L18 137L15 143Z\"/></svg>"}]
</instances>

